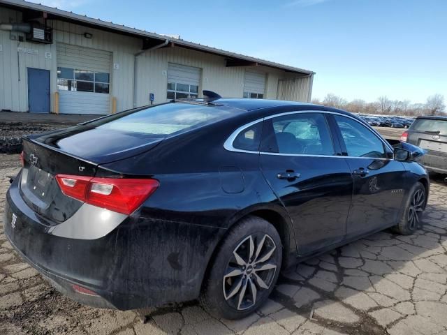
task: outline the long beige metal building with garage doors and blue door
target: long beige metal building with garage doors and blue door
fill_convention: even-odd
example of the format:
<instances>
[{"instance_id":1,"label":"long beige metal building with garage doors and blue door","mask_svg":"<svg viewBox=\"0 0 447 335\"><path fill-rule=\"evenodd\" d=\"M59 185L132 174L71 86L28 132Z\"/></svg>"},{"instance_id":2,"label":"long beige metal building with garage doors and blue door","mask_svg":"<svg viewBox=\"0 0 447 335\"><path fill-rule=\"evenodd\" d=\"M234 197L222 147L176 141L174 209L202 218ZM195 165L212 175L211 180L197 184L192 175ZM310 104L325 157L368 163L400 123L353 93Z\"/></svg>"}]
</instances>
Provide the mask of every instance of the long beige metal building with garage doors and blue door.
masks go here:
<instances>
[{"instance_id":1,"label":"long beige metal building with garage doors and blue door","mask_svg":"<svg viewBox=\"0 0 447 335\"><path fill-rule=\"evenodd\" d=\"M178 37L178 36L177 36ZM173 98L310 101L314 72L0 0L0 110L108 114Z\"/></svg>"}]
</instances>

